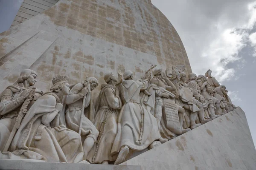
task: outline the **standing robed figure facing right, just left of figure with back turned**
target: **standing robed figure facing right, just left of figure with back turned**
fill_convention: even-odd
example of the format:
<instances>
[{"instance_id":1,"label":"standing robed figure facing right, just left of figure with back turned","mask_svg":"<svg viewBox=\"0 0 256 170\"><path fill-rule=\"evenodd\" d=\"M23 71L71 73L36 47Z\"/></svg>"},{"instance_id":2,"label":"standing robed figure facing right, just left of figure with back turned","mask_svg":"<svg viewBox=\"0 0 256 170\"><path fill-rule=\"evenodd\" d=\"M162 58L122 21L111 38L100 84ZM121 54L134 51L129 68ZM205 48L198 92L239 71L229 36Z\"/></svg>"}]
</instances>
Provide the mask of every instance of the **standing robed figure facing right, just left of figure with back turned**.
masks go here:
<instances>
[{"instance_id":1,"label":"standing robed figure facing right, just left of figure with back turned","mask_svg":"<svg viewBox=\"0 0 256 170\"><path fill-rule=\"evenodd\" d=\"M95 106L94 125L99 130L99 137L96 147L90 151L88 156L90 162L98 164L108 164L108 162L116 160L116 156L111 156L111 149L117 133L118 110L122 107L119 90L115 86L116 77L113 73L108 72L103 78L107 84L101 85Z\"/></svg>"}]
</instances>

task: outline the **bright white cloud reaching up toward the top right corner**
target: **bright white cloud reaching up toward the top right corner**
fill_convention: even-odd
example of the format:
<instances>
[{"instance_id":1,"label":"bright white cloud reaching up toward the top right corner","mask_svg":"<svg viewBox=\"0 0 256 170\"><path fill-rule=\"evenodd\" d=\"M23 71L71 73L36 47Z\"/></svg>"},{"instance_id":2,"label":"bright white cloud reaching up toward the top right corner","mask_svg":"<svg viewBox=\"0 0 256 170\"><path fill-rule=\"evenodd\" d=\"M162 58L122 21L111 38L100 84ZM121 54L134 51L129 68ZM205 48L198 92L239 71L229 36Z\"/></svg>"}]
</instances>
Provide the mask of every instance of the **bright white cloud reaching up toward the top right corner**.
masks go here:
<instances>
[{"instance_id":1,"label":"bright white cloud reaching up toward the top right corner","mask_svg":"<svg viewBox=\"0 0 256 170\"><path fill-rule=\"evenodd\" d=\"M250 40L251 44L256 49L256 33L248 34L256 24L256 2L250 3L247 6L247 19L241 24L238 22L233 27L225 27L226 23L221 21L216 24L216 31L219 33L212 42L202 51L202 58L204 59L203 67L197 67L196 72L203 72L208 68L212 69L212 75L215 76L219 82L233 79L237 69L244 67L245 60L238 56L239 51L247 45ZM222 25L222 22L224 23ZM256 55L256 53L255 53ZM192 58L193 60L193 58ZM228 68L229 63L239 61L236 68ZM240 75L241 76L241 75ZM236 76L235 79L239 79Z\"/></svg>"}]
</instances>

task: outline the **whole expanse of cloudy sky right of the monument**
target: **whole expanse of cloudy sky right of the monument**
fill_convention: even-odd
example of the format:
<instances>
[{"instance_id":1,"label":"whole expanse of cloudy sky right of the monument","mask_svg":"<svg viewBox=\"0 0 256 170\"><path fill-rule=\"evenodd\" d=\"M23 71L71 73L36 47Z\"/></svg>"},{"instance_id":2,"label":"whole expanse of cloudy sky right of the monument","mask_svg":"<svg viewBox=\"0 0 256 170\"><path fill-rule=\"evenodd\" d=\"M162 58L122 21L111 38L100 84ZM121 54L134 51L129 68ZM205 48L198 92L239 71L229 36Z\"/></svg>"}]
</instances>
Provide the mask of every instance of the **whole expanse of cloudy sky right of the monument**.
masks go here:
<instances>
[{"instance_id":1,"label":"whole expanse of cloudy sky right of the monument","mask_svg":"<svg viewBox=\"0 0 256 170\"><path fill-rule=\"evenodd\" d=\"M180 35L192 71L208 69L246 113L256 145L256 0L152 0Z\"/></svg>"}]
</instances>

